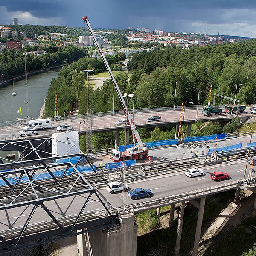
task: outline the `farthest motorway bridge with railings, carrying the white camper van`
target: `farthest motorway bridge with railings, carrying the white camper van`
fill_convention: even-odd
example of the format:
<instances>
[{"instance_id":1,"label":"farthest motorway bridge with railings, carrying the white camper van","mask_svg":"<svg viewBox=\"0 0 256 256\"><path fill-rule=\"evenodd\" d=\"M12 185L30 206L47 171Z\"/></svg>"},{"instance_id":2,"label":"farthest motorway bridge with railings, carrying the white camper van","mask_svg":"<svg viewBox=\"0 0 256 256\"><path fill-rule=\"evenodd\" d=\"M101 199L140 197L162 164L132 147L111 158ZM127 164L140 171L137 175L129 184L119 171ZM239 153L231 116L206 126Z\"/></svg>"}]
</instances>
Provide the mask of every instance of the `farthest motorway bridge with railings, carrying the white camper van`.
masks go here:
<instances>
[{"instance_id":1,"label":"farthest motorway bridge with railings, carrying the white camper van","mask_svg":"<svg viewBox=\"0 0 256 256\"><path fill-rule=\"evenodd\" d=\"M228 122L230 121L230 115L226 113L221 113L217 116L204 116L201 111L202 107L197 109L195 106L186 106L186 111L184 114L184 124L189 125L188 135L191 131L191 124L195 123L196 117L197 119L202 119L203 122L213 121L213 122ZM197 115L198 112L198 115ZM184 113L184 112L183 112ZM162 116L163 120L161 122L150 123L147 122L146 119L151 116ZM252 115L250 114L250 107L247 107L244 113L239 114L242 120L246 120L250 118ZM104 112L104 113L94 113L92 118L93 123L93 133L102 133L108 131L120 131L123 130L123 126L118 126L115 124L119 119L124 119L124 114L122 111L113 112ZM54 118L52 118L54 120ZM37 131L37 134L33 137L50 137L53 132L56 131L56 128L59 125L68 123L69 120L64 116L60 117L59 121L52 121L52 128L44 131ZM180 122L180 109L177 107L177 110L173 110L173 108L149 108L149 109L138 109L134 110L134 120L137 128L150 128L155 126L175 126L176 125L176 133L178 124ZM84 125L83 125L84 121ZM72 119L73 128L79 131L79 134L87 133L90 121L87 118L87 115L77 115ZM12 141L12 140L20 140L23 137L20 137L18 132L23 129L26 123L18 123L16 121L13 122L1 122L0 123L0 142L1 141ZM118 144L118 143L117 143Z\"/></svg>"}]
</instances>

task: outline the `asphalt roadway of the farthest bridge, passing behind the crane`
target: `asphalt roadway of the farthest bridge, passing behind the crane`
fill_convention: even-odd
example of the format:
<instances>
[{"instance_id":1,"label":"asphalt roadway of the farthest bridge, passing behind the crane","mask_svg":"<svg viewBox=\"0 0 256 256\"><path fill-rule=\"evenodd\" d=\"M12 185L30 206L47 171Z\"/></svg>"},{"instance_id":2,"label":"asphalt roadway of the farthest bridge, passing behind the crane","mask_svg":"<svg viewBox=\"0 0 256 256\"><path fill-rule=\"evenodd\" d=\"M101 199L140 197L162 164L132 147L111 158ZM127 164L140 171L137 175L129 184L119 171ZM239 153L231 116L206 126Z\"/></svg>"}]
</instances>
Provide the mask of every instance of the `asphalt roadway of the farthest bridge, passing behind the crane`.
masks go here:
<instances>
[{"instance_id":1,"label":"asphalt roadway of the farthest bridge, passing behind the crane","mask_svg":"<svg viewBox=\"0 0 256 256\"><path fill-rule=\"evenodd\" d=\"M187 109L185 111L185 116L184 116L184 122L190 121L190 120L195 120L196 118L196 109ZM136 125L139 126L152 126L152 123L149 123L146 121L148 117L151 116L161 116L163 118L162 122L155 122L153 125L164 125L164 123L170 123L170 122L179 122L180 121L180 111L156 111L156 112L145 112L145 113L134 113L134 121ZM251 116L250 114L250 109L247 108L247 110L239 114L239 116ZM229 118L230 115L221 113L221 115L218 116L204 116L201 113L201 109L198 109L198 119L205 119L205 120L216 120L216 119L227 119ZM94 117L93 118L93 129L94 132L97 131L103 131L103 130L115 130L119 126L115 125L115 122L118 121L119 119L124 119L124 115L113 115L113 116L100 116L100 117ZM88 120L85 120L85 125L80 122L82 122L83 119L73 119L72 125L73 128L78 130L78 131L86 131L87 126L88 126ZM53 121L52 122L52 128L47 129L47 130L37 130L36 136L50 136L52 133L56 131L56 128L59 125L68 123L68 120L62 120L62 121ZM5 141L5 140L17 140L22 137L19 136L19 131L23 130L23 127L25 125L17 125L17 126L6 126L6 127L0 127L0 141ZM30 137L36 137L30 136ZM26 137L28 138L28 136Z\"/></svg>"}]
</instances>

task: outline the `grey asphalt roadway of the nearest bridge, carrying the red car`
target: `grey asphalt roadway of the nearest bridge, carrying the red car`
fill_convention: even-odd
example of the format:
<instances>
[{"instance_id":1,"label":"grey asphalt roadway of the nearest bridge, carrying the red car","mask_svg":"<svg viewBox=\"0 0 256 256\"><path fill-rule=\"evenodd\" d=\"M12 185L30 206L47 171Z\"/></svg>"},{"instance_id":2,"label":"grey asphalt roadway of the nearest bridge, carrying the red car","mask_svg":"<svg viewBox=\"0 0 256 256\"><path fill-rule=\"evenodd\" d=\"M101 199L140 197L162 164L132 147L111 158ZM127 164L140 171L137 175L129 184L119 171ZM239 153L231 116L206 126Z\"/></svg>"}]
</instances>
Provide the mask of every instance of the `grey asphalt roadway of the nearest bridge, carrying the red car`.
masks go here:
<instances>
[{"instance_id":1,"label":"grey asphalt roadway of the nearest bridge, carrying the red car","mask_svg":"<svg viewBox=\"0 0 256 256\"><path fill-rule=\"evenodd\" d=\"M129 189L134 189L136 187L148 188L152 190L153 195L150 198L141 198L135 201L129 198L126 192L126 205L133 205L135 203L165 198L172 195L178 195L184 192L195 191L198 189L216 186L218 184L242 180L244 175L245 162L246 160L237 160L230 163L221 163L214 166L202 167L201 169L203 169L205 172L205 175L203 177L189 178L186 177L186 175L184 175L184 170L180 170L175 173L159 175L157 177L147 178L145 180L128 183ZM247 170L248 169L249 167L247 168ZM223 180L219 182L211 180L209 175L215 171L229 173L230 180ZM105 189L100 189L98 190L98 192L102 196L108 208L121 207L121 192L118 192L116 194L110 194ZM86 195L79 195L76 197L48 201L45 203L45 205L52 212L55 218L61 218L64 216L78 214L86 198ZM14 227L23 227L23 224L25 223L26 218L28 218L31 209L32 206L26 206L0 211L0 230L8 230L9 228ZM93 195L87 207L84 209L84 213L101 211L102 209L103 207L101 203ZM30 221L30 225L49 220L50 218L47 215L47 213L44 212L44 210L41 207L38 207L35 211L35 214L32 217L32 220Z\"/></svg>"}]
</instances>

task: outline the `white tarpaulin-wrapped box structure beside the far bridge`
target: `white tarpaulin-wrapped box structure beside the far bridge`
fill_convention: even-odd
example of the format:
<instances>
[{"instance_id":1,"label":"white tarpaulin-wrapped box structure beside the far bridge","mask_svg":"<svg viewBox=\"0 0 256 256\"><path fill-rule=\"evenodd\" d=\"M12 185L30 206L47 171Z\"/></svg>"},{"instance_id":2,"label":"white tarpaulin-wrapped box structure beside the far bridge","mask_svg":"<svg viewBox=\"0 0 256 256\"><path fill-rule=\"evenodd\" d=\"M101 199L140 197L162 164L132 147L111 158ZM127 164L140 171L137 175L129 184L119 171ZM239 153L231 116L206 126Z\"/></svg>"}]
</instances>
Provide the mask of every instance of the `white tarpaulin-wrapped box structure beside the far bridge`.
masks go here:
<instances>
[{"instance_id":1,"label":"white tarpaulin-wrapped box structure beside the far bridge","mask_svg":"<svg viewBox=\"0 0 256 256\"><path fill-rule=\"evenodd\" d=\"M81 151L79 151L78 131L55 132L52 134L52 139L53 157L55 157L55 155L65 156L81 153Z\"/></svg>"}]
</instances>

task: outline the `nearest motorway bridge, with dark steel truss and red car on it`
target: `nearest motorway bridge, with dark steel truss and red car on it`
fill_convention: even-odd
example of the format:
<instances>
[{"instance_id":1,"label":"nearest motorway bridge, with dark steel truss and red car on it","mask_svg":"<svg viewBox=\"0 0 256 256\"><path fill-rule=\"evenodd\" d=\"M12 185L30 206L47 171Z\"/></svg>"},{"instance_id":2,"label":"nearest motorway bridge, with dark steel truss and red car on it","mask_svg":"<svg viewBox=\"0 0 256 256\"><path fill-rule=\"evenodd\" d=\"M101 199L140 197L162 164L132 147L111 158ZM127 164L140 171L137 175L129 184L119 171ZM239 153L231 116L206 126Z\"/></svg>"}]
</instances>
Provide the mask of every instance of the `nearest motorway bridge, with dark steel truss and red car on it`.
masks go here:
<instances>
[{"instance_id":1,"label":"nearest motorway bridge, with dark steel truss and red car on it","mask_svg":"<svg viewBox=\"0 0 256 256\"><path fill-rule=\"evenodd\" d=\"M79 156L82 157L82 154ZM29 241L38 244L38 239L48 238L47 241L50 241L97 232L97 229L106 227L118 227L119 218L124 212L129 215L175 203L181 203L181 228L177 231L177 241L180 241L185 201L197 205L198 216L202 218L207 195L230 189L254 188L255 175L250 179L246 176L245 182L243 180L246 157L247 151L241 150L232 157L213 160L207 165L206 160L190 157L126 167L125 173L123 169L80 173L77 165L72 163L56 164L54 160L57 157L2 164L0 169L10 170L0 172L0 248L2 252L15 250L27 246ZM205 175L186 177L185 170L192 166L203 169ZM209 177L214 171L228 172L230 179L215 182ZM56 176L56 172L64 174ZM45 173L51 174L50 178L42 179ZM127 192L122 198L121 192L110 194L105 190L106 182L123 179L128 183L129 190L148 188L153 195L134 201ZM124 200L125 207L122 205ZM198 249L200 231L201 226L196 231L195 251ZM176 252L179 252L179 244L176 243Z\"/></svg>"}]
</instances>

